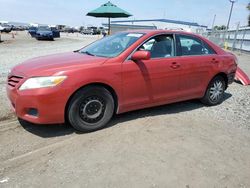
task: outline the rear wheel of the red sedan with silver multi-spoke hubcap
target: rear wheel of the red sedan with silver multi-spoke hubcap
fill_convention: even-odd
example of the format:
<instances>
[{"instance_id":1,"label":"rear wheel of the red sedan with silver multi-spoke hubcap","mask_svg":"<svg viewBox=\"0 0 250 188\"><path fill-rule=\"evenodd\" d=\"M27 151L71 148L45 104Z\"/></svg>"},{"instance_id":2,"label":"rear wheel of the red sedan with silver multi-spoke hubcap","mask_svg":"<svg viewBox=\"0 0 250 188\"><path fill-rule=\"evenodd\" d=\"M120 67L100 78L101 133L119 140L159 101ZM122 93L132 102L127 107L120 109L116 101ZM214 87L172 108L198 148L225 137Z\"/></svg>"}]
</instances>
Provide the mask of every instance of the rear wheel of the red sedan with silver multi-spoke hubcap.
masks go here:
<instances>
[{"instance_id":1,"label":"rear wheel of the red sedan with silver multi-spoke hubcap","mask_svg":"<svg viewBox=\"0 0 250 188\"><path fill-rule=\"evenodd\" d=\"M214 77L208 84L207 90L201 102L208 106L221 104L224 99L226 82L222 76Z\"/></svg>"}]
</instances>

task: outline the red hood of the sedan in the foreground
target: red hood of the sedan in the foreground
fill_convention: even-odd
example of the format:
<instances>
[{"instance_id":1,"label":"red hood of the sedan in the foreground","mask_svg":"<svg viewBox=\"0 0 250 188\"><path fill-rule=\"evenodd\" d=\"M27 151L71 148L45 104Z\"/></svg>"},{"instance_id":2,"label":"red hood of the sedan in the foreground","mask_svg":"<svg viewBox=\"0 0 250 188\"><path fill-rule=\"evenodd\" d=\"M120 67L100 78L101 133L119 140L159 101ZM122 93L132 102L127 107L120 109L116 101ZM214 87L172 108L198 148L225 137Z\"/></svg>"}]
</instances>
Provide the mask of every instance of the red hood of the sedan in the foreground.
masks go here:
<instances>
[{"instance_id":1,"label":"red hood of the sedan in the foreground","mask_svg":"<svg viewBox=\"0 0 250 188\"><path fill-rule=\"evenodd\" d=\"M11 74L25 77L53 75L72 69L97 66L106 60L107 58L104 57L90 56L78 52L48 55L33 58L15 66Z\"/></svg>"}]
</instances>

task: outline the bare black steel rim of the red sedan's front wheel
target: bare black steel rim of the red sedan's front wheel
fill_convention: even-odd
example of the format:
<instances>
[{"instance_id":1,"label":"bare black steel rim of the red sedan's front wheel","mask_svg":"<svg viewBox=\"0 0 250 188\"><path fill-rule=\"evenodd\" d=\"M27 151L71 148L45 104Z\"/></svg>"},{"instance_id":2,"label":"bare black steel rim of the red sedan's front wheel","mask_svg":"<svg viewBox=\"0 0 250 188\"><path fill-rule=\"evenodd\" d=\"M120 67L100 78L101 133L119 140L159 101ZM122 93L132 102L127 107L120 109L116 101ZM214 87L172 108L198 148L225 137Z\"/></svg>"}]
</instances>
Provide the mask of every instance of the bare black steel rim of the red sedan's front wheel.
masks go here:
<instances>
[{"instance_id":1,"label":"bare black steel rim of the red sedan's front wheel","mask_svg":"<svg viewBox=\"0 0 250 188\"><path fill-rule=\"evenodd\" d=\"M98 122L104 114L105 103L99 97L88 97L80 105L79 113L82 120L87 123Z\"/></svg>"}]
</instances>

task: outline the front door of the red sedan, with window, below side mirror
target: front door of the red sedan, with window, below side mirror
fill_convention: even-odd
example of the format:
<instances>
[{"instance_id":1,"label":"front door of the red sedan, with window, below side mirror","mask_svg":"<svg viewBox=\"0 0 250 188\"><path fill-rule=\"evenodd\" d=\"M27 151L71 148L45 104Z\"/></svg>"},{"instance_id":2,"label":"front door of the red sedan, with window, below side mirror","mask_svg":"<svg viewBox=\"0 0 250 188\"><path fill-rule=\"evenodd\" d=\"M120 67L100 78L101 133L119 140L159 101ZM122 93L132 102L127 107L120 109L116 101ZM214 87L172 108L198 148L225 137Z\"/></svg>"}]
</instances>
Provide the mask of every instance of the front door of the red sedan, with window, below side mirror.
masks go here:
<instances>
[{"instance_id":1,"label":"front door of the red sedan, with window, below side mirror","mask_svg":"<svg viewBox=\"0 0 250 188\"><path fill-rule=\"evenodd\" d=\"M173 35L158 35L137 50L151 53L149 60L122 64L124 108L127 110L163 104L178 98L178 57Z\"/></svg>"}]
</instances>

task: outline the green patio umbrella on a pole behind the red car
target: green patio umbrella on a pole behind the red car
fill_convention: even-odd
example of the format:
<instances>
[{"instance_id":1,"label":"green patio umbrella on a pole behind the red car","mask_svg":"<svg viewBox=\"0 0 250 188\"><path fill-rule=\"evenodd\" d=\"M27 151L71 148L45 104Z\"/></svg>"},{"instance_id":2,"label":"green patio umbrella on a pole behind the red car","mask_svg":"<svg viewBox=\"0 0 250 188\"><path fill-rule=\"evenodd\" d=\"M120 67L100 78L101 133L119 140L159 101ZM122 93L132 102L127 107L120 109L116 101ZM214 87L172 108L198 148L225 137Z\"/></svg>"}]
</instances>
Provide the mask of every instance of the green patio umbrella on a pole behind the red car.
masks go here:
<instances>
[{"instance_id":1,"label":"green patio umbrella on a pole behind the red car","mask_svg":"<svg viewBox=\"0 0 250 188\"><path fill-rule=\"evenodd\" d=\"M97 18L108 18L108 34L110 34L110 18L127 18L132 14L122 10L111 2L107 2L99 8L89 12L87 16L93 16Z\"/></svg>"}]
</instances>

